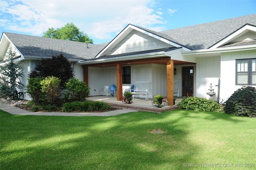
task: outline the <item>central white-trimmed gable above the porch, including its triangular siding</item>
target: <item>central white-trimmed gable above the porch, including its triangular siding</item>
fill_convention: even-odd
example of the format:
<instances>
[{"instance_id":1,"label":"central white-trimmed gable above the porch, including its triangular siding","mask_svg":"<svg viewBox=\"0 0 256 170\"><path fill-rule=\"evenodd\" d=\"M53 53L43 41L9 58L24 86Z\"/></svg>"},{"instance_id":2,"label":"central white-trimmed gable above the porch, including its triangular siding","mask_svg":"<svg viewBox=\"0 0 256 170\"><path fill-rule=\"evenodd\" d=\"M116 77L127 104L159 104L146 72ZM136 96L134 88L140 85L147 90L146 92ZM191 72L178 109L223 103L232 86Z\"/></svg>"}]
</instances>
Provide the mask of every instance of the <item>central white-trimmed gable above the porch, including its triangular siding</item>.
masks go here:
<instances>
[{"instance_id":1,"label":"central white-trimmed gable above the porch, including its triangular siding","mask_svg":"<svg viewBox=\"0 0 256 170\"><path fill-rule=\"evenodd\" d=\"M184 47L184 50L189 50L175 41L167 35L129 24L96 58L172 47Z\"/></svg>"}]
</instances>

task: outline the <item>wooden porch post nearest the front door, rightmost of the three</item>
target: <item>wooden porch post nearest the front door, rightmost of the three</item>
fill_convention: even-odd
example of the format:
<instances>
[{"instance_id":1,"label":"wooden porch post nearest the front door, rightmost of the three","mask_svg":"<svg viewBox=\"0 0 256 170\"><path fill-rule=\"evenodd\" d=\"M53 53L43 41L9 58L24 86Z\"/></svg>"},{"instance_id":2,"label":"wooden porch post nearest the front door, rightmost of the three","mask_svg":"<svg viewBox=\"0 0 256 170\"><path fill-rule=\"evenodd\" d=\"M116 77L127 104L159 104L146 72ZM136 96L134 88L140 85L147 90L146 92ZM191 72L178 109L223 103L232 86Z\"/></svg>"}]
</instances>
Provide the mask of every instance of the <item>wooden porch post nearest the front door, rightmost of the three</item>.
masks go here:
<instances>
[{"instance_id":1,"label":"wooden porch post nearest the front door, rightmost of the three","mask_svg":"<svg viewBox=\"0 0 256 170\"><path fill-rule=\"evenodd\" d=\"M168 105L172 106L173 103L173 69L174 69L174 65L173 65L173 60L171 60L170 58L167 59L167 101L168 101Z\"/></svg>"}]
</instances>

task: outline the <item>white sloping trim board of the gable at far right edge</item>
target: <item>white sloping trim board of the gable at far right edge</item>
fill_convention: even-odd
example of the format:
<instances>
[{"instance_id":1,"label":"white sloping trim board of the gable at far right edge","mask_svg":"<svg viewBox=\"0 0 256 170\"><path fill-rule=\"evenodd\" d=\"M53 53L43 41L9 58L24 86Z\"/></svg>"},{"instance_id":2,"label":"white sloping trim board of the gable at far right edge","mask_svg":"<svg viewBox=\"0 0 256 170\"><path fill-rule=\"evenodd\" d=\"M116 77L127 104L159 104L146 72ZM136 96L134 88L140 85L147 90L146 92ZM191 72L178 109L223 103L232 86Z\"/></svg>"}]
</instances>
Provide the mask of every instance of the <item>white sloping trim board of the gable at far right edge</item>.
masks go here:
<instances>
[{"instance_id":1,"label":"white sloping trim board of the gable at far right edge","mask_svg":"<svg viewBox=\"0 0 256 170\"><path fill-rule=\"evenodd\" d=\"M221 40L220 42L216 43L214 46L212 46L209 49L215 49L218 48L226 43L228 43L230 40L248 32L248 31L254 31L256 32L256 27L255 26L251 26L251 25L245 25L242 28L236 30L235 32L233 32L232 34L230 34L229 36L227 36L226 38L224 38L223 40Z\"/></svg>"}]
</instances>

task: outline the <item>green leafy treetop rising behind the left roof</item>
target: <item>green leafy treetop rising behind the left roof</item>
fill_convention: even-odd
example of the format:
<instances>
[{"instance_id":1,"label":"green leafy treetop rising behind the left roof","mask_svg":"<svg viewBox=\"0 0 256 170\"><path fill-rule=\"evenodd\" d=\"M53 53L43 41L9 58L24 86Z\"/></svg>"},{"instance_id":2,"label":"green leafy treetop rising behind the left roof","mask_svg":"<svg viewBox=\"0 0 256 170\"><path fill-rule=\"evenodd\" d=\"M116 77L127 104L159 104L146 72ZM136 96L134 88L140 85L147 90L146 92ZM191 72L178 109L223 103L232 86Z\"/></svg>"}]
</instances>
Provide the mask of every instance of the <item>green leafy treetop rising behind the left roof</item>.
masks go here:
<instances>
[{"instance_id":1,"label":"green leafy treetop rising behind the left roof","mask_svg":"<svg viewBox=\"0 0 256 170\"><path fill-rule=\"evenodd\" d=\"M93 40L90 39L83 31L80 31L79 28L77 28L72 22L67 23L62 28L48 28L48 30L43 33L43 37L93 44Z\"/></svg>"}]
</instances>

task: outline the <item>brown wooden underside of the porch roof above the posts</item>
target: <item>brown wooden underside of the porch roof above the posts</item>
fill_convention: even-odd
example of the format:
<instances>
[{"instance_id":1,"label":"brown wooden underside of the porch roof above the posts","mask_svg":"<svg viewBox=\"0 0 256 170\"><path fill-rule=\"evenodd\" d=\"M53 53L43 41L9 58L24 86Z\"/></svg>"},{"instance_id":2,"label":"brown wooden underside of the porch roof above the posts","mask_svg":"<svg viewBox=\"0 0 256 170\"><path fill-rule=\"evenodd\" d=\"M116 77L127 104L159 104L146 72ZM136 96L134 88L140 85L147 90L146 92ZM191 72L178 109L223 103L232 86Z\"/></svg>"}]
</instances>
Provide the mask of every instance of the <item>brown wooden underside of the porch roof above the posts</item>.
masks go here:
<instances>
[{"instance_id":1,"label":"brown wooden underside of the porch roof above the posts","mask_svg":"<svg viewBox=\"0 0 256 170\"><path fill-rule=\"evenodd\" d=\"M135 64L164 64L166 65L167 59L170 57L160 57L160 58L151 58L151 59L138 59L138 60L127 60L122 62L102 62L97 64L86 64L83 66L90 67L111 67L116 66L116 64L122 63L122 65L135 65ZM179 60L174 60L174 65L186 65L186 64L194 64L191 62L184 62Z\"/></svg>"}]
</instances>

